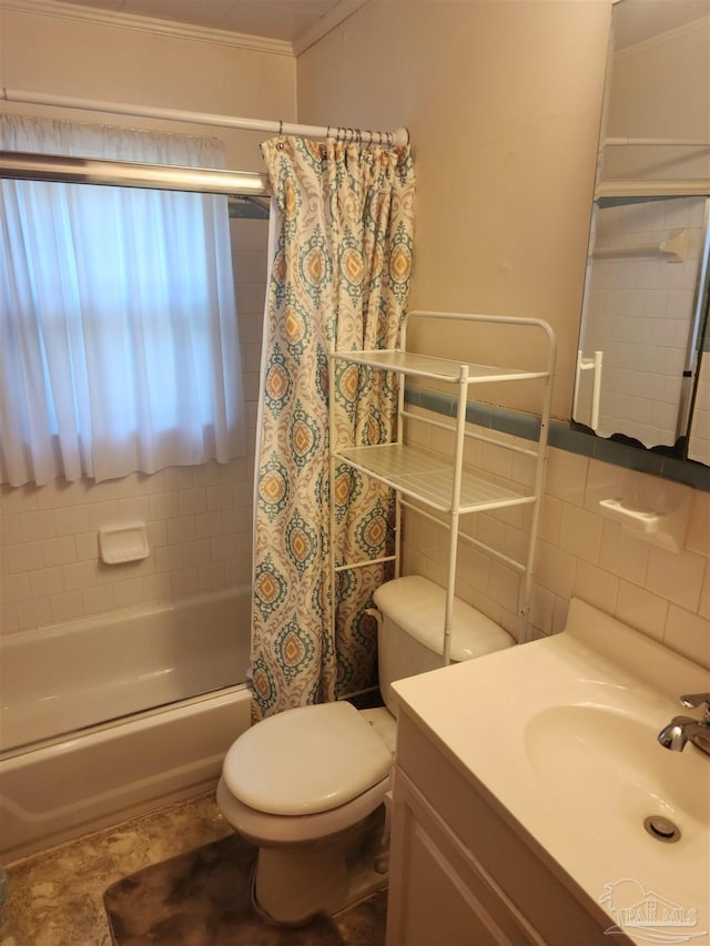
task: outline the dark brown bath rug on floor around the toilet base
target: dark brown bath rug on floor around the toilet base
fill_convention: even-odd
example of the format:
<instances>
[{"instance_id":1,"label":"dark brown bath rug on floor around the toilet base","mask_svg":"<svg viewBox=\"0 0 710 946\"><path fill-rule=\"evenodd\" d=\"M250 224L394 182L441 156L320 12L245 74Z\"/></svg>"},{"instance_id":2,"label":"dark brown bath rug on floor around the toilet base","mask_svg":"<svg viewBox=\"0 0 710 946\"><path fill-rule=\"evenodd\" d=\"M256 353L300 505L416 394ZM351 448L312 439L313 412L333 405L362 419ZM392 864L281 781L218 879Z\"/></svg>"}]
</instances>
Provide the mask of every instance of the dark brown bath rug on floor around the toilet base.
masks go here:
<instances>
[{"instance_id":1,"label":"dark brown bath rug on floor around the toilet base","mask_svg":"<svg viewBox=\"0 0 710 946\"><path fill-rule=\"evenodd\" d=\"M336 917L277 926L252 907L256 848L237 835L112 884L103 901L115 946L384 946L386 893Z\"/></svg>"}]
</instances>

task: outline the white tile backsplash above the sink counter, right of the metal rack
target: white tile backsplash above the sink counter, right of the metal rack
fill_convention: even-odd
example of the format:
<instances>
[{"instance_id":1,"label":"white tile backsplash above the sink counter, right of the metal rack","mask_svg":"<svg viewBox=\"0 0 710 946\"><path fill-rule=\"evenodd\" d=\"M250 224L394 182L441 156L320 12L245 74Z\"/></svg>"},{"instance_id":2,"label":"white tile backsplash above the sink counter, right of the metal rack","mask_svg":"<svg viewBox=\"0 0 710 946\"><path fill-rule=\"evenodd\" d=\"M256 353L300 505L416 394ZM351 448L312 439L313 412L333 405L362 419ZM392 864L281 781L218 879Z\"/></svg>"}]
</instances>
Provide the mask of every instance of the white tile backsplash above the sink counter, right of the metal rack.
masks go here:
<instances>
[{"instance_id":1,"label":"white tile backsplash above the sink counter, right of the metal rack","mask_svg":"<svg viewBox=\"0 0 710 946\"><path fill-rule=\"evenodd\" d=\"M572 596L710 667L710 494L690 494L683 547L650 545L599 515L643 474L551 450L540 519L534 624L558 631Z\"/></svg>"}]
</instances>

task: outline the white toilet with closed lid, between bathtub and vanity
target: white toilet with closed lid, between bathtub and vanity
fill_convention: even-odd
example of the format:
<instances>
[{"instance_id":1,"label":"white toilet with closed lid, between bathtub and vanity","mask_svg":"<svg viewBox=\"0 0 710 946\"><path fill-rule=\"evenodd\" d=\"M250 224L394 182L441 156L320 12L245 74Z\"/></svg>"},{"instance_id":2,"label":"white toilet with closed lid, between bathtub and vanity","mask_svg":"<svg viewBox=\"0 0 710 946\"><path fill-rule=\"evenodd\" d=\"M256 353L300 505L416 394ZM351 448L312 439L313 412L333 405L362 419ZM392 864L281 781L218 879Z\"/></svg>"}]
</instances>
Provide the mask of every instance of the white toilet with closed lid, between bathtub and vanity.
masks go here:
<instances>
[{"instance_id":1,"label":"white toilet with closed lid, between bathtub and vanity","mask_svg":"<svg viewBox=\"0 0 710 946\"><path fill-rule=\"evenodd\" d=\"M290 710L256 723L229 750L217 804L258 847L255 907L278 923L337 913L387 885L385 795L389 790L396 694L392 683L442 665L445 591L420 576L374 594L379 686L385 705L347 701ZM452 661L515 640L455 599Z\"/></svg>"}]
</instances>

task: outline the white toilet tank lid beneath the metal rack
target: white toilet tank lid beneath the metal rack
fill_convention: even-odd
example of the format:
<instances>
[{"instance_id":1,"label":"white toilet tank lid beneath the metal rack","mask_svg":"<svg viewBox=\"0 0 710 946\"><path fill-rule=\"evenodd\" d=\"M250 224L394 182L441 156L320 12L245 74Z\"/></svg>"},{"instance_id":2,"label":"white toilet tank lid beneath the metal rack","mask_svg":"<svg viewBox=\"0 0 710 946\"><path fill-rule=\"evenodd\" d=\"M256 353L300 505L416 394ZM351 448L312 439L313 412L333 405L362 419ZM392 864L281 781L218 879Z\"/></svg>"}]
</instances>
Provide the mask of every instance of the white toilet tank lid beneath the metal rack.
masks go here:
<instances>
[{"instance_id":1,"label":"white toilet tank lid beneath the metal rack","mask_svg":"<svg viewBox=\"0 0 710 946\"><path fill-rule=\"evenodd\" d=\"M443 652L446 592L420 574L386 581L375 591L377 608L435 653ZM504 629L476 608L454 598L452 660L470 660L515 644Z\"/></svg>"}]
</instances>

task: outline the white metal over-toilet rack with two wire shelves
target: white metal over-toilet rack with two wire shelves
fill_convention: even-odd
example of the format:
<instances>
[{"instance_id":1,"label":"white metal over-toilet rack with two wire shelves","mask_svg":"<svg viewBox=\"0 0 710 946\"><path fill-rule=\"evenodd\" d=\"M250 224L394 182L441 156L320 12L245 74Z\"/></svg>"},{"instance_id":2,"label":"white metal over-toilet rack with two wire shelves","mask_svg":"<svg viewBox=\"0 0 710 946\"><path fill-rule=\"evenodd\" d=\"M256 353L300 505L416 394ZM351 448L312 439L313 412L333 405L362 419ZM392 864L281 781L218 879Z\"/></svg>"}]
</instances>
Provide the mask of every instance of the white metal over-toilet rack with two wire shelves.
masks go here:
<instances>
[{"instance_id":1,"label":"white metal over-toilet rack with two wire shelves","mask_svg":"<svg viewBox=\"0 0 710 946\"><path fill-rule=\"evenodd\" d=\"M529 337L532 337L532 334L540 336L540 338L535 338L535 344L541 339L541 355L537 354L537 360L541 367L479 365L409 352L407 350L407 329L415 321L428 323L424 329L430 332L434 327L435 333L439 336L446 334L453 324L457 324L457 330L463 325L464 330L479 326L483 327L483 330L486 328L500 330L503 328L505 333L529 332L531 333ZM528 335L526 334L525 337L528 338ZM514 335L510 334L511 342L513 338ZM467 346L467 348L469 347ZM505 347L506 350L514 348L513 344ZM494 556L521 574L517 608L523 627L518 639L520 641L527 639L526 616L529 606L532 558L547 452L555 348L552 329L541 319L415 311L405 317L399 349L335 352L331 355L329 421L331 436L334 441L331 448L332 522L335 522L336 477L343 466L346 466L386 484L395 491L394 553L377 559L377 561L394 561L396 574L399 574L399 525L403 509L412 508L416 510L417 516L429 519L448 530L446 610L442 647L445 664L449 662L454 579L459 541L468 542L479 551ZM338 390L338 385L339 379L354 366L362 373L358 378L359 385L367 384L368 373L371 372L386 372L398 376L396 441L372 446L341 441L337 433L336 405L342 403L344 396ZM487 397L493 399L490 385L520 385L527 382L539 383L529 396L530 413L540 418L532 440L516 440L511 436L500 437L496 436L491 428L486 429L480 425L478 427L467 425L467 410L475 403L477 387L485 386L483 390L487 393ZM408 384L414 385L418 391L433 391L434 398L438 396L440 399L442 395L448 398L452 405L450 415L447 417L445 413L437 413L432 416L409 409L405 399L405 386ZM354 387L352 378L343 387L352 389ZM426 398L422 403L424 406L428 404ZM418 437L409 438L408 430L419 426L426 428L424 435L419 433ZM435 452L424 446L430 441L436 441L437 437L442 438L442 436L448 436L453 441L449 457L446 457L442 450ZM531 461L532 466L529 484L521 485L513 478L506 479L504 476L493 475L489 469L476 468L475 462L467 461L466 450L470 441L478 441L478 445L484 445L484 448L485 445L490 445L515 457L529 458L527 462ZM471 451L471 454L474 452ZM509 467L513 468L513 466L514 464L510 462ZM459 528L462 517L514 506L530 506L532 508L526 548L524 553L518 557L504 553L500 549L494 548L480 539L473 538ZM335 542L332 543L332 556L333 587L335 587L338 571L373 564L373 560L346 562L337 560Z\"/></svg>"}]
</instances>

